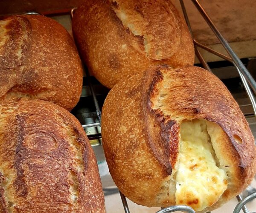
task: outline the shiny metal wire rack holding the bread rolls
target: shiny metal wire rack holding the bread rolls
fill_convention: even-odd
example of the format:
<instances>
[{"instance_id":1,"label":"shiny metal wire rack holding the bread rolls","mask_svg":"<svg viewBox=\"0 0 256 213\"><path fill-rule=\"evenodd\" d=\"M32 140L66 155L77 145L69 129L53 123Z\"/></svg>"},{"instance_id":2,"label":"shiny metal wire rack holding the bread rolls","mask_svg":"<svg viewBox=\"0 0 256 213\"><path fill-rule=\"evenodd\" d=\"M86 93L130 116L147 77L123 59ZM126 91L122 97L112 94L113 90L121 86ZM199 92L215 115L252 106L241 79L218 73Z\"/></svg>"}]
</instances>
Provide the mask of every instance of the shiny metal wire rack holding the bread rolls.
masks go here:
<instances>
[{"instance_id":1,"label":"shiny metal wire rack holding the bread rolls","mask_svg":"<svg viewBox=\"0 0 256 213\"><path fill-rule=\"evenodd\" d=\"M202 5L198 2L198 0L191 0L195 7L198 9L198 11L201 13L202 17L204 17L204 20L207 22L207 24L209 25L209 27L212 29L212 32L216 35L216 37L218 38L218 40L221 42L223 48L227 51L228 55L223 55L220 52L216 52L213 49L210 49L209 47L199 43L197 40L193 39L194 45L195 45L195 54L198 58L198 60L200 61L201 65L204 67L204 69L207 69L209 72L212 72L209 65L207 64L207 62L204 60L203 56L201 55L201 52L199 51L199 49L204 49L214 55L217 55L218 57L227 60L231 63L233 63L233 65L236 67L239 76L241 78L241 81L244 85L244 88L247 92L247 95L251 101L252 107L253 107L253 112L254 112L254 116L256 117L256 100L255 97L253 95L256 94L256 82L253 79L253 77L250 75L250 73L248 72L248 70L245 68L244 64L241 62L241 60L238 58L238 56L236 55L235 52L233 52L233 50L231 49L230 45L227 43L227 41L224 39L224 37L221 35L221 32L218 31L217 27L215 26L215 24L212 22L211 18L209 17L209 15L207 14L207 12L205 12L204 8L202 7ZM186 12L186 7L184 5L183 0L180 0L180 5L183 11L183 15L185 17L187 26L189 27L189 31L192 35L192 29L190 26L190 22L189 22L189 17L187 15ZM75 12L76 8L73 8L70 12L71 18L73 18L73 13ZM26 14L39 14L37 12L28 12ZM193 36L193 35L192 35ZM93 122L91 124L84 124L82 125L83 128L87 128L87 127L101 127L101 110L99 107L99 103L96 97L96 92L95 92L95 88L93 86L93 83L91 82L91 76L90 73L88 72L87 68L85 67L85 72L86 72L86 76L87 76L87 83L88 86L90 88L90 93L93 97L93 102L94 102L94 106L96 109L96 115L98 118L98 121ZM100 145L101 143L97 144ZM124 212L125 213L130 213L127 201L125 196L119 191L120 196L121 196L121 200L122 200L122 204L124 207ZM244 199L242 199L242 197L240 195L238 195L237 200L239 201L239 203L236 205L236 207L234 208L233 213L240 213L240 211L242 210L244 213L250 213L250 211L247 209L246 204L255 199L256 198L256 193L252 193L248 196L246 196ZM175 205L175 206L170 206L167 208L162 208L161 210L157 211L157 213L170 213L170 212L176 212L176 211L182 211L182 212L187 212L187 213L195 213L195 211L186 205ZM255 212L254 212L255 213Z\"/></svg>"}]
</instances>

